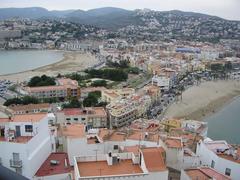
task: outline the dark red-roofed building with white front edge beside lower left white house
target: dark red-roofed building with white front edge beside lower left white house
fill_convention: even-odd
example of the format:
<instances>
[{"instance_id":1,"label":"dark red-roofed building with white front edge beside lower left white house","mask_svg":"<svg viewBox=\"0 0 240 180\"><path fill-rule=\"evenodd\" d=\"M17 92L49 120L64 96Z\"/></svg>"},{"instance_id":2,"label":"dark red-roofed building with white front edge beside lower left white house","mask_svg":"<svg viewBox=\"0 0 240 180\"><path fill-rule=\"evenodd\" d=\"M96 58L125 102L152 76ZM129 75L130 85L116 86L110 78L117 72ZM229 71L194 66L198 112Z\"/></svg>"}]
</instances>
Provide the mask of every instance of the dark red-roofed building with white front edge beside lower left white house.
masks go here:
<instances>
[{"instance_id":1,"label":"dark red-roofed building with white front edge beside lower left white house","mask_svg":"<svg viewBox=\"0 0 240 180\"><path fill-rule=\"evenodd\" d=\"M51 153L38 169L33 180L72 180L72 171L66 153Z\"/></svg>"}]
</instances>

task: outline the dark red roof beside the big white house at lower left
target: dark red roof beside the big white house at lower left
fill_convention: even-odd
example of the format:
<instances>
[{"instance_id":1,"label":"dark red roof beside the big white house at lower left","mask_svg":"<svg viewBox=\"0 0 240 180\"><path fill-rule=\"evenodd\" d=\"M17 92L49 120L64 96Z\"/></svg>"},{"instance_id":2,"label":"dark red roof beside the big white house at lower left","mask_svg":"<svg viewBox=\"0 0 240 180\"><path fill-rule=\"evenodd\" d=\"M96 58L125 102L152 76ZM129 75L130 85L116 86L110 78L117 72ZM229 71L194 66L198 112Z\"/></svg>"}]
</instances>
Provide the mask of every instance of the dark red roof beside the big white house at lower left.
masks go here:
<instances>
[{"instance_id":1,"label":"dark red roof beside the big white house at lower left","mask_svg":"<svg viewBox=\"0 0 240 180\"><path fill-rule=\"evenodd\" d=\"M59 164L51 165L51 160L58 161ZM65 161L67 164L65 164ZM67 165L67 166L66 166ZM70 167L68 156L66 153L52 153L44 161L41 167L38 169L35 176L51 176L56 174L70 173L72 168Z\"/></svg>"}]
</instances>

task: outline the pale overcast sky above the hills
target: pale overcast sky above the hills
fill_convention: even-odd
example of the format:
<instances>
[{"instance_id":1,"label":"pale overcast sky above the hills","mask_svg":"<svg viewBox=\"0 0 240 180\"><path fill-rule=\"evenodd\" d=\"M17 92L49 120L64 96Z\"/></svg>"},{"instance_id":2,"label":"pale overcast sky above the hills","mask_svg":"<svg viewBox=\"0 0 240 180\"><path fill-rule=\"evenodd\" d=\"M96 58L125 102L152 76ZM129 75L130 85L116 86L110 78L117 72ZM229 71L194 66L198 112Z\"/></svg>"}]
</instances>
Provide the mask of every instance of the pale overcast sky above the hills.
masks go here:
<instances>
[{"instance_id":1,"label":"pale overcast sky above the hills","mask_svg":"<svg viewBox=\"0 0 240 180\"><path fill-rule=\"evenodd\" d=\"M49 10L125 9L183 10L240 20L240 0L0 0L0 7L44 7Z\"/></svg>"}]
</instances>

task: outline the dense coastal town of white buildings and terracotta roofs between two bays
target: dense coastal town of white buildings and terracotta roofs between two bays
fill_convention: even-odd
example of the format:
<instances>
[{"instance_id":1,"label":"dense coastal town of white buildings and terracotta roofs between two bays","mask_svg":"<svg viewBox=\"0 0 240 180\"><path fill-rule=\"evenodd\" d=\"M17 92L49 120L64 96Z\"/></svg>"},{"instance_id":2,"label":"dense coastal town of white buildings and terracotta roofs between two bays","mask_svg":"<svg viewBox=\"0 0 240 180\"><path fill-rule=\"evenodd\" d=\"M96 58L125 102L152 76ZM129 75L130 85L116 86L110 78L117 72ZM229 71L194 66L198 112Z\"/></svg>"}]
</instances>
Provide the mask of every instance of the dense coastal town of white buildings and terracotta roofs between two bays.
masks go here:
<instances>
[{"instance_id":1,"label":"dense coastal town of white buildings and terracotta roofs between two bays","mask_svg":"<svg viewBox=\"0 0 240 180\"><path fill-rule=\"evenodd\" d=\"M239 88L240 23L212 20L217 32L204 16L177 23L176 15L165 22L158 12L136 13L147 26L114 32L65 20L0 22L2 49L97 60L82 71L1 77L0 165L33 180L240 179L240 145L212 140L200 119L166 116L189 88L217 81Z\"/></svg>"}]
</instances>

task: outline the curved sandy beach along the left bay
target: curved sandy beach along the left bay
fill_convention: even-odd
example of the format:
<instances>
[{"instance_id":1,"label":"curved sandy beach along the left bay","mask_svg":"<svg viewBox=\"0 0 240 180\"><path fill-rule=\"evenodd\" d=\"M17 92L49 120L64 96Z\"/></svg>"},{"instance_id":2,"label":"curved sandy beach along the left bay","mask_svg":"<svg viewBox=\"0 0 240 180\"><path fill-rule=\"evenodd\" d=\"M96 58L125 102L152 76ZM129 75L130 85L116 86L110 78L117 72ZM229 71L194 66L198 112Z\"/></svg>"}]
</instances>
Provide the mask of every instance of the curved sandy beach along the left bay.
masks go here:
<instances>
[{"instance_id":1,"label":"curved sandy beach along the left bay","mask_svg":"<svg viewBox=\"0 0 240 180\"><path fill-rule=\"evenodd\" d=\"M29 71L1 75L0 80L8 79L13 82L22 82L29 80L33 76L39 76L43 74L46 74L48 76L56 76L59 73L67 74L71 72L82 71L97 63L98 61L95 56L92 56L90 53L65 52L64 58L59 62Z\"/></svg>"}]
</instances>

